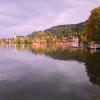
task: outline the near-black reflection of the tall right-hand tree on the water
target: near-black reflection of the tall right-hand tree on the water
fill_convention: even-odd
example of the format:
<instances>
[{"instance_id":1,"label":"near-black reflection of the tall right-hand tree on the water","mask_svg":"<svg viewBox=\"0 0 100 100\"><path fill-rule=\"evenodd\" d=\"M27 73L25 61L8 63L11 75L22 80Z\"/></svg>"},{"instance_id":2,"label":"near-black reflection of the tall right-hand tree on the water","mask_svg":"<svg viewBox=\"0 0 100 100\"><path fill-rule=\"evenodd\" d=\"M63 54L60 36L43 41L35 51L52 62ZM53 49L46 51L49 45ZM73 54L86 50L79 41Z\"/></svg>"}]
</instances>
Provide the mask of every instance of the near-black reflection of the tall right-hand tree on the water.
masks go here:
<instances>
[{"instance_id":1,"label":"near-black reflection of the tall right-hand tree on the water","mask_svg":"<svg viewBox=\"0 0 100 100\"><path fill-rule=\"evenodd\" d=\"M90 81L93 84L100 85L100 54L88 53L85 58L85 63Z\"/></svg>"}]
</instances>

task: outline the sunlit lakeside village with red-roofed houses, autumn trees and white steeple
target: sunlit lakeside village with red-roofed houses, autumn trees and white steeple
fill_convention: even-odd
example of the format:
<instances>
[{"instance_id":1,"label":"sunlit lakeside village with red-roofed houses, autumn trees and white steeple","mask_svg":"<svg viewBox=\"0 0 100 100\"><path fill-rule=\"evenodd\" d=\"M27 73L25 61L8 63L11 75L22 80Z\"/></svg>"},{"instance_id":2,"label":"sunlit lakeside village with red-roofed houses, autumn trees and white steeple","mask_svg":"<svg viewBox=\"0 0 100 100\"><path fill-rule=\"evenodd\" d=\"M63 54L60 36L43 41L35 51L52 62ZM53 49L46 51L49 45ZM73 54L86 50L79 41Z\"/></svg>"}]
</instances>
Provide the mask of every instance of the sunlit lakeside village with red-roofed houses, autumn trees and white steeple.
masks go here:
<instances>
[{"instance_id":1,"label":"sunlit lakeside village with red-roofed houses, autumn trees and white steeple","mask_svg":"<svg viewBox=\"0 0 100 100\"><path fill-rule=\"evenodd\" d=\"M70 36L56 36L53 34L46 35L44 32L39 32L34 37L17 36L14 33L13 38L0 39L1 44L33 44L33 45L49 45L58 44L66 45L67 47L79 47L80 38L77 34Z\"/></svg>"}]
</instances>

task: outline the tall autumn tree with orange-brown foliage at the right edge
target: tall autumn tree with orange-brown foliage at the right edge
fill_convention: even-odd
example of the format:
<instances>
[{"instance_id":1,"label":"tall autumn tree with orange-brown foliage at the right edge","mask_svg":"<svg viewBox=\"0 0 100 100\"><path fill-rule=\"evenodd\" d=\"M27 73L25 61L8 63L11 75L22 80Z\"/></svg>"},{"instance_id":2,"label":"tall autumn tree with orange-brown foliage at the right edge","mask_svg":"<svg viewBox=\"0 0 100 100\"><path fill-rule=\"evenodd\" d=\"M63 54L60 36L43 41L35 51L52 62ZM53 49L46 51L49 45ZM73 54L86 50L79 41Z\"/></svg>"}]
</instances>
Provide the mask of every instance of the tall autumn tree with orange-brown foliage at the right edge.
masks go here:
<instances>
[{"instance_id":1,"label":"tall autumn tree with orange-brown foliage at the right edge","mask_svg":"<svg viewBox=\"0 0 100 100\"><path fill-rule=\"evenodd\" d=\"M97 41L100 43L100 7L91 11L84 28L88 41Z\"/></svg>"}]
</instances>

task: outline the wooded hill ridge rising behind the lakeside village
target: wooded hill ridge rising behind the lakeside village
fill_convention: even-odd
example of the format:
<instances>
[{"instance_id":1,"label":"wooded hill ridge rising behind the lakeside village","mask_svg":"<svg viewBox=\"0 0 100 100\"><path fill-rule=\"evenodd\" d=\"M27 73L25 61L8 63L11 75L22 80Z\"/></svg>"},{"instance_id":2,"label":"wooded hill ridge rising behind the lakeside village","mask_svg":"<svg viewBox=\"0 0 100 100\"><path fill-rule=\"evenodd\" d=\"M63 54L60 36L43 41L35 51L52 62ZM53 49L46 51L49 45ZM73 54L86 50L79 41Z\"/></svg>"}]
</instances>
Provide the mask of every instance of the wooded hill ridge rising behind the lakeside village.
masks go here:
<instances>
[{"instance_id":1,"label":"wooded hill ridge rising behind the lakeside village","mask_svg":"<svg viewBox=\"0 0 100 100\"><path fill-rule=\"evenodd\" d=\"M78 23L78 24L68 24L68 25L58 25L53 26L49 29L44 30L46 34L59 34L63 31L70 31L70 32L82 32L84 28L85 22ZM29 37L33 37L37 32L33 32L32 34L28 35Z\"/></svg>"}]
</instances>

